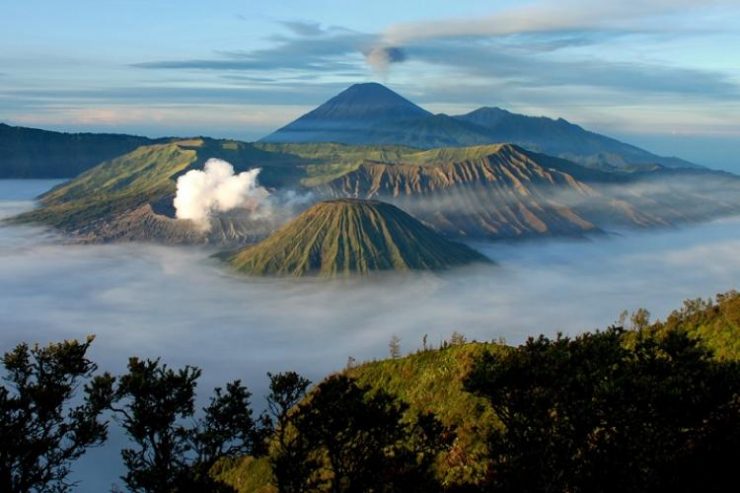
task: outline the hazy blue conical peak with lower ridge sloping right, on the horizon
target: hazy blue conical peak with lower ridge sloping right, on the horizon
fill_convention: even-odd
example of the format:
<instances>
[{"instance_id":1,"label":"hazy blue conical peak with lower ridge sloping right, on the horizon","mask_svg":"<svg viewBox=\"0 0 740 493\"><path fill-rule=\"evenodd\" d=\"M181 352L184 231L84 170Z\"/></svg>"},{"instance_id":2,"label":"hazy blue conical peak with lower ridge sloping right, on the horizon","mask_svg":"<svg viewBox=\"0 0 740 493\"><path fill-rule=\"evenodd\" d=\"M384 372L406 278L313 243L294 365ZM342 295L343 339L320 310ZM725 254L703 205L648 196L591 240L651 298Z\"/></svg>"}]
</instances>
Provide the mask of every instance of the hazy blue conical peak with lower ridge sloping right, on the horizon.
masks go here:
<instances>
[{"instance_id":1,"label":"hazy blue conical peak with lower ridge sloping right, on the horizon","mask_svg":"<svg viewBox=\"0 0 740 493\"><path fill-rule=\"evenodd\" d=\"M512 143L607 170L699 167L590 132L562 118L530 117L488 107L459 116L433 115L376 83L351 86L262 141L420 149Z\"/></svg>"}]
</instances>

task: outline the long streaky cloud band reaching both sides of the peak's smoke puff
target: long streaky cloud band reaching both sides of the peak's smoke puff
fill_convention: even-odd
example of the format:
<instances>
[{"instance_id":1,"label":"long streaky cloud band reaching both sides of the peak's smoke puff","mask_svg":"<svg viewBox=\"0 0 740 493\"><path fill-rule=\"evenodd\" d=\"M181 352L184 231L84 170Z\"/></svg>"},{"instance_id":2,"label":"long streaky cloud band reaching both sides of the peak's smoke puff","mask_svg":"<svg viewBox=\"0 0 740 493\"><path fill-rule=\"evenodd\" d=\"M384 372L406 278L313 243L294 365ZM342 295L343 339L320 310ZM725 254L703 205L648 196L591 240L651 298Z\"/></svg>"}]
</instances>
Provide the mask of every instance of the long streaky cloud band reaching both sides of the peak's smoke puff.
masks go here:
<instances>
[{"instance_id":1,"label":"long streaky cloud band reaching both sides of the peak's smoke puff","mask_svg":"<svg viewBox=\"0 0 740 493\"><path fill-rule=\"evenodd\" d=\"M734 3L711 2L709 7L702 7L702 12L712 6ZM619 37L639 35L642 38L631 42L650 43L654 41L650 36L687 30L703 34L712 31L712 26L690 26L672 17L694 8L688 0L629 0L599 5L582 0L539 2L476 18L394 24L379 34L338 27L323 29L315 22L288 22L283 25L289 27L292 36L273 37L275 45L269 48L222 51L214 58L161 60L134 66L150 70L270 74L276 81L297 74L314 78L341 74L356 81L366 77L363 65L386 76L392 66L407 61L409 72L405 76L436 67L445 70L440 73L444 80L447 78L444 74L452 70L456 79L464 77L503 89L501 99L512 97L513 92L533 89L543 95L543 91L550 91L546 96L552 101L563 96L563 87L613 92L600 94L602 100L632 94L673 94L697 100L740 97L734 76L721 70L598 54L553 56L565 48L608 47ZM437 82L433 78L421 92ZM502 84L511 87L502 88ZM465 93L457 97L467 97L473 103Z\"/></svg>"}]
</instances>

